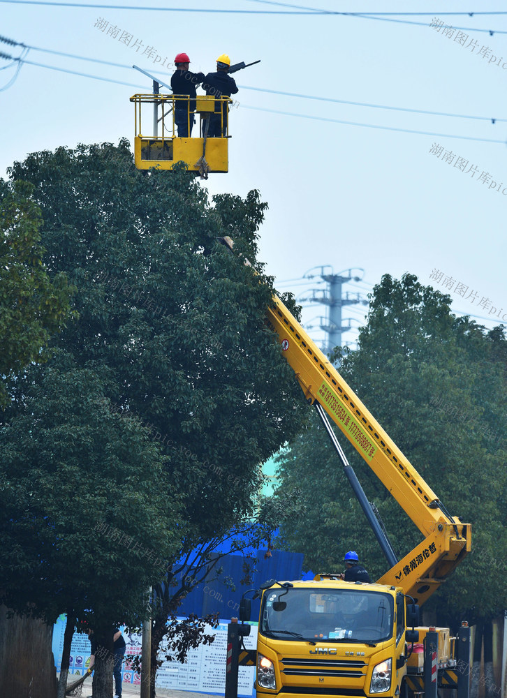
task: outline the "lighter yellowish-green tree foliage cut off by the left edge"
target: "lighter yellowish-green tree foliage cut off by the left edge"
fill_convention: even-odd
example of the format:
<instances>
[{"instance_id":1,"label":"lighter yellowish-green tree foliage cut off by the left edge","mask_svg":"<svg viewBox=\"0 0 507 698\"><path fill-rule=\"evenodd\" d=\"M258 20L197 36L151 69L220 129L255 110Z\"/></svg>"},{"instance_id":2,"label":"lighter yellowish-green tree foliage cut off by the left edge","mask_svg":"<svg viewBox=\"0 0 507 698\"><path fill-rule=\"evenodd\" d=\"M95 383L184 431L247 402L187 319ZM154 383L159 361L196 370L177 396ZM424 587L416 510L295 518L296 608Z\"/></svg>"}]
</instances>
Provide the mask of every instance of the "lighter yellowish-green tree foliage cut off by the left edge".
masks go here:
<instances>
[{"instance_id":1,"label":"lighter yellowish-green tree foliage cut off by the left edge","mask_svg":"<svg viewBox=\"0 0 507 698\"><path fill-rule=\"evenodd\" d=\"M34 186L0 180L0 408L8 403L6 381L31 362L68 318L65 274L50 279L42 258L41 211Z\"/></svg>"}]
</instances>

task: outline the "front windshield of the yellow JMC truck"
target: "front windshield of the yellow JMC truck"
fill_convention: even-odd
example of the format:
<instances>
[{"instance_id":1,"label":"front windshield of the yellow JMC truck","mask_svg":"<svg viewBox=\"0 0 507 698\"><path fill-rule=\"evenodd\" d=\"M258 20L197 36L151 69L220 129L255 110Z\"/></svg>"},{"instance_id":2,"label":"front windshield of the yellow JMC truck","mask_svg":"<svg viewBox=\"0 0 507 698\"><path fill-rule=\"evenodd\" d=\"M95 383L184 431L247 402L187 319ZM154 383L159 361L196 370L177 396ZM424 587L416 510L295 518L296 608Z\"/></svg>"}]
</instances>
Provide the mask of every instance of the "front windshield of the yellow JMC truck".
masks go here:
<instances>
[{"instance_id":1,"label":"front windshield of the yellow JMC truck","mask_svg":"<svg viewBox=\"0 0 507 698\"><path fill-rule=\"evenodd\" d=\"M392 637L394 602L378 591L290 588L266 591L260 632L293 639L381 642ZM299 637L298 637L299 636Z\"/></svg>"}]
</instances>

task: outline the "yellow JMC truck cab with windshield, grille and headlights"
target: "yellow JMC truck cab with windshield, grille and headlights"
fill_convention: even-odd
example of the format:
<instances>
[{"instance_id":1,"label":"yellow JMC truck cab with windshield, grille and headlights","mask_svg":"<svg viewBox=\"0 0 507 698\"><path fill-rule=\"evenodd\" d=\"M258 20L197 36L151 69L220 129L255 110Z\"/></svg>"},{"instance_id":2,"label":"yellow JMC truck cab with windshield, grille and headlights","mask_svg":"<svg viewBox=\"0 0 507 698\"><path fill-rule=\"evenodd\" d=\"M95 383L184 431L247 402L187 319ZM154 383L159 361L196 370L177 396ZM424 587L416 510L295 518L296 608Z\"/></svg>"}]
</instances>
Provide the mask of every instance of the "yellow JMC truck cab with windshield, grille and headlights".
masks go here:
<instances>
[{"instance_id":1,"label":"yellow JMC truck cab with windshield, grille and headlights","mask_svg":"<svg viewBox=\"0 0 507 698\"><path fill-rule=\"evenodd\" d=\"M406 674L402 589L336 578L289 584L263 592L257 697L398 695Z\"/></svg>"}]
</instances>

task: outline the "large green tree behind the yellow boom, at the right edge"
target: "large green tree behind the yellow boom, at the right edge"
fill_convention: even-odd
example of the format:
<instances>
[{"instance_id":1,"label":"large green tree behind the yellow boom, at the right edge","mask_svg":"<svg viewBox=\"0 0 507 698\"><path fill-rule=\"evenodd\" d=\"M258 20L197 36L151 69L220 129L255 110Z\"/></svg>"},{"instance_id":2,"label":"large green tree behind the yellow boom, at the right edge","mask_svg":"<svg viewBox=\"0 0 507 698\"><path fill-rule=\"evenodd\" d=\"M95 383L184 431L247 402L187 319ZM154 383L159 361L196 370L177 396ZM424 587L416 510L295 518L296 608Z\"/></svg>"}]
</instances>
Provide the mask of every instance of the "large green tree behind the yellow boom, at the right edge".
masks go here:
<instances>
[{"instance_id":1,"label":"large green tree behind the yellow boom, at the right edge","mask_svg":"<svg viewBox=\"0 0 507 698\"><path fill-rule=\"evenodd\" d=\"M463 614L491 618L507 602L507 341L450 312L450 297L406 274L374 288L358 350L340 373L395 440L451 514L473 525L472 553L427 602L439 622ZM340 436L340 435L339 435ZM374 500L399 557L421 535L390 493L343 438L370 501ZM372 577L388 569L323 429L313 420L281 459L283 498L302 489L306 517L288 520L283 535L316 571L341 570L356 549ZM499 574L484 584L485 560Z\"/></svg>"}]
</instances>

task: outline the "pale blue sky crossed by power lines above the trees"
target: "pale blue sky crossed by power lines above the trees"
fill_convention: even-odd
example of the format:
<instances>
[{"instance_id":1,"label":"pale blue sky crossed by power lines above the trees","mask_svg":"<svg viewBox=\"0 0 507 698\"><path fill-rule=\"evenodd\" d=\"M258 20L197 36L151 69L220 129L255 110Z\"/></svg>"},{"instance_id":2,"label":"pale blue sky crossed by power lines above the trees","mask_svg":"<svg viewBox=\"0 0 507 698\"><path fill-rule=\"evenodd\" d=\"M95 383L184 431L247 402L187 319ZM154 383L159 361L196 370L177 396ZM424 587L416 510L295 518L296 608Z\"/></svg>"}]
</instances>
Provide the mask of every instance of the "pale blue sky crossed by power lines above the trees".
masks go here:
<instances>
[{"instance_id":1,"label":"pale blue sky crossed by power lines above the trees","mask_svg":"<svg viewBox=\"0 0 507 698\"><path fill-rule=\"evenodd\" d=\"M288 0L287 0L288 1ZM134 2L127 2L125 4ZM111 3L118 6L120 3ZM253 0L170 0L171 7L276 10ZM163 7L160 0L146 6ZM316 3L321 9L362 12L430 11L454 27L507 31L507 15L445 18L462 10L455 1L355 0ZM473 10L506 10L505 2L469 3ZM283 9L283 8L279 8ZM439 14L440 10L440 14ZM235 75L240 106L231 112L230 170L203 186L210 193L242 196L258 188L269 203L261 230L260 257L279 281L297 279L307 269L329 264L335 272L363 267L362 288L383 273L416 274L432 283L432 269L490 299L507 320L506 214L507 124L410 114L353 105L265 94L249 87L321 97L507 119L507 34L466 31L478 41L472 53L427 26L432 16L404 17L426 26L339 15L237 15L15 5L0 3L0 33L45 49L139 64L152 46L162 59L190 54L192 68L208 72L227 52L233 63L262 62ZM94 24L98 17L142 42L136 51ZM402 17L399 17L400 19ZM469 40L467 40L468 43ZM478 56L486 46L503 58L500 65ZM19 55L19 47L0 43L0 51ZM134 70L85 63L31 50L28 60L102 75L142 86L124 87L54 70L24 65L17 80L0 92L0 174L28 152L73 147L78 142L133 140L133 106L128 98L149 91L149 81ZM501 66L505 64L505 69ZM0 59L0 68L8 62ZM163 73L159 73L162 77ZM13 68L0 70L0 89ZM166 80L170 73L166 73ZM447 135L417 135L362 128L259 110L279 110L326 119L357 121ZM458 140L451 135L499 140ZM462 156L478 173L471 179L430 154L436 142ZM468 165L468 166L469 166ZM468 167L467 166L467 167ZM487 184L477 178L492 175ZM497 185L488 190L491 181ZM281 284L290 288L290 284ZM294 286L295 292L304 287ZM438 288L441 288L439 286ZM357 290L350 286L349 290ZM451 292L457 310L478 315L478 299ZM318 314L305 311L309 320ZM357 311L344 317L360 317ZM497 313L494 313L495 315ZM354 322L358 325L358 322ZM489 327L494 322L485 323ZM321 336L320 333L314 336ZM344 339L353 341L356 334Z\"/></svg>"}]
</instances>

